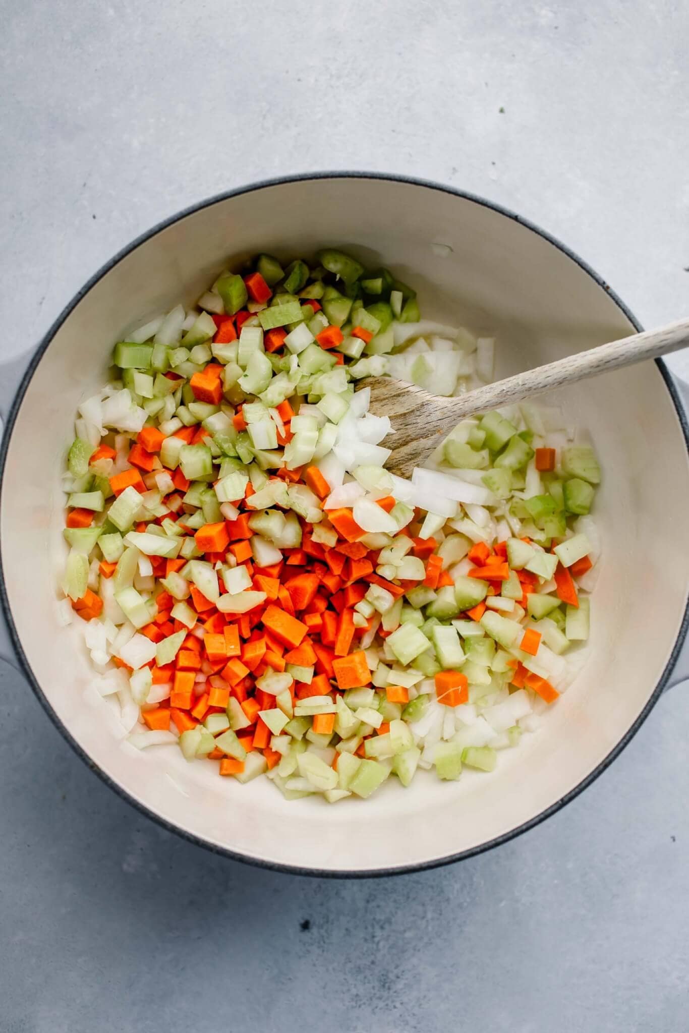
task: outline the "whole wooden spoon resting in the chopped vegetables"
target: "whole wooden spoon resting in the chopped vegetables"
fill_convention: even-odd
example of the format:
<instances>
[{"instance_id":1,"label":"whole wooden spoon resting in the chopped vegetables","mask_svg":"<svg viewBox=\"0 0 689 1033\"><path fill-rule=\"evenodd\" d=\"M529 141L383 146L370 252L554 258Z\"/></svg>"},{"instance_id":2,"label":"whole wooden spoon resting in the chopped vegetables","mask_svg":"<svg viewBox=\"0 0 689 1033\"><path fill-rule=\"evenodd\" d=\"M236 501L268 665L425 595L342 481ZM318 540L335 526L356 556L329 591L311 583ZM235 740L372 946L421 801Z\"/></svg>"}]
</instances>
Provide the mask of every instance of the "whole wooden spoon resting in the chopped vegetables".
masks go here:
<instances>
[{"instance_id":1,"label":"whole wooden spoon resting in the chopped vegetables","mask_svg":"<svg viewBox=\"0 0 689 1033\"><path fill-rule=\"evenodd\" d=\"M565 384L576 383L599 373L609 373L622 366L643 363L666 355L689 345L689 319L680 319L660 330L633 334L631 337L580 351L535 370L518 373L506 380L467 392L458 398L430 395L415 384L395 377L367 377L358 388L371 388L371 412L389 416L394 431L382 444L393 453L385 463L392 473L411 476L415 466L422 466L431 452L465 416L521 402Z\"/></svg>"}]
</instances>

